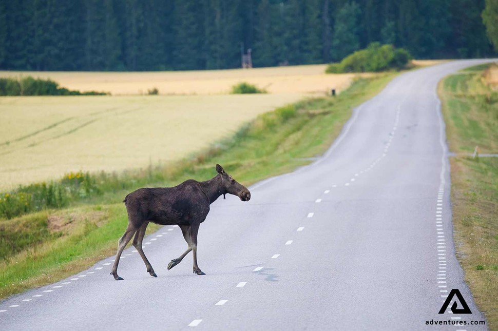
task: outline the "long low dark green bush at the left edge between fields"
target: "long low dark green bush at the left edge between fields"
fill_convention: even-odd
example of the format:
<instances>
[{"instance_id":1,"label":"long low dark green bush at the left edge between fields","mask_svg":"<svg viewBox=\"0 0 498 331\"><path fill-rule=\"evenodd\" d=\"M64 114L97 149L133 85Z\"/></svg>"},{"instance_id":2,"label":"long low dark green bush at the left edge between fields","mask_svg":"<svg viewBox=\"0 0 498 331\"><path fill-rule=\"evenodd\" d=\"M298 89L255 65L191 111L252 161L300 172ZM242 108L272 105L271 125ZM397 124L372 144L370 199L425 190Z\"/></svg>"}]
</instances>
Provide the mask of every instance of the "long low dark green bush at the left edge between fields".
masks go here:
<instances>
[{"instance_id":1,"label":"long low dark green bush at the left edge between fields","mask_svg":"<svg viewBox=\"0 0 498 331\"><path fill-rule=\"evenodd\" d=\"M0 78L0 95L106 95L106 92L71 91L52 80L34 79L31 76L20 80Z\"/></svg>"}]
</instances>

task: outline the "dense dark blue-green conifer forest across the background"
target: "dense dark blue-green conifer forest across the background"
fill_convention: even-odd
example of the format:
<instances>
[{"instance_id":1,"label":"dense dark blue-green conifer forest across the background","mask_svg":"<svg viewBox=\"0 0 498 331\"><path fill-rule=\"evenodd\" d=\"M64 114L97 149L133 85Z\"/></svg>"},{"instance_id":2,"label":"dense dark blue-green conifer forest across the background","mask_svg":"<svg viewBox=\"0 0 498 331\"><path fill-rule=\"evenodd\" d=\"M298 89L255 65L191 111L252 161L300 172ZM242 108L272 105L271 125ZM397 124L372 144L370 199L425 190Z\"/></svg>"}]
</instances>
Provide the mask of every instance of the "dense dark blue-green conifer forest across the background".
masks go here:
<instances>
[{"instance_id":1,"label":"dense dark blue-green conifer forest across the background","mask_svg":"<svg viewBox=\"0 0 498 331\"><path fill-rule=\"evenodd\" d=\"M185 70L341 60L371 42L493 54L485 0L0 0L0 69Z\"/></svg>"}]
</instances>

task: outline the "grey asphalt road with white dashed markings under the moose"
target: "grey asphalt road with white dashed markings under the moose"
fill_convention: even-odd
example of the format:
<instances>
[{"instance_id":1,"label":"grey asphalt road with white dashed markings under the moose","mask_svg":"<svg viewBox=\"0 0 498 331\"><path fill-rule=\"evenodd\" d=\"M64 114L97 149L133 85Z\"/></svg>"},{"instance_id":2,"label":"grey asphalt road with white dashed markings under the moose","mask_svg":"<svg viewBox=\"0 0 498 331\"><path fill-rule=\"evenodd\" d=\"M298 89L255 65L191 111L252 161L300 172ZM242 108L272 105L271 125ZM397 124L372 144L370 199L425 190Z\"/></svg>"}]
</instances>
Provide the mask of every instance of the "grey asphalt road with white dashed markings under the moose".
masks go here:
<instances>
[{"instance_id":1,"label":"grey asphalt road with white dashed markings under the moose","mask_svg":"<svg viewBox=\"0 0 498 331\"><path fill-rule=\"evenodd\" d=\"M191 254L166 269L186 244L163 227L144 240L158 278L131 247L124 281L109 275L109 257L1 302L0 329L485 329L426 325L484 320L455 258L435 93L445 75L482 62L396 77L318 161L252 186L250 202L218 199L199 230L206 276L192 274ZM438 314L453 288L472 314Z\"/></svg>"}]
</instances>

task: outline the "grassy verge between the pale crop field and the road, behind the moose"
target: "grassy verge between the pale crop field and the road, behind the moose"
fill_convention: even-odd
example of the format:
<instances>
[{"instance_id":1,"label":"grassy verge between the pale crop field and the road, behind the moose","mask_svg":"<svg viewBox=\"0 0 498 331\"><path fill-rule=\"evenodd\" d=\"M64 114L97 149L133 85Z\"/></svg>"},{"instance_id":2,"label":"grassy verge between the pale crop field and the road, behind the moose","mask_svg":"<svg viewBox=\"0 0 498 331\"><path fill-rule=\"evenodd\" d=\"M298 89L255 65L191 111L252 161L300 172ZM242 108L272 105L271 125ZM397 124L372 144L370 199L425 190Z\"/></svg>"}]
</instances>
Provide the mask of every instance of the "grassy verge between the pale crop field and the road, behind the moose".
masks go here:
<instances>
[{"instance_id":1,"label":"grassy verge between the pale crop field and the road, behind the moose","mask_svg":"<svg viewBox=\"0 0 498 331\"><path fill-rule=\"evenodd\" d=\"M168 166L102 174L96 185L103 192L70 208L45 210L0 220L0 299L73 275L114 254L126 223L121 203L130 190L170 186L188 179L209 179L216 163L245 185L289 172L309 163L303 158L323 153L350 118L354 106L372 98L397 73L360 79L335 98L319 98L280 107L258 116L231 139L221 141L181 162ZM36 223L35 231L23 224ZM3 229L23 232L26 248L7 242ZM149 226L154 231L157 226ZM9 248L10 247L10 248Z\"/></svg>"}]
</instances>

